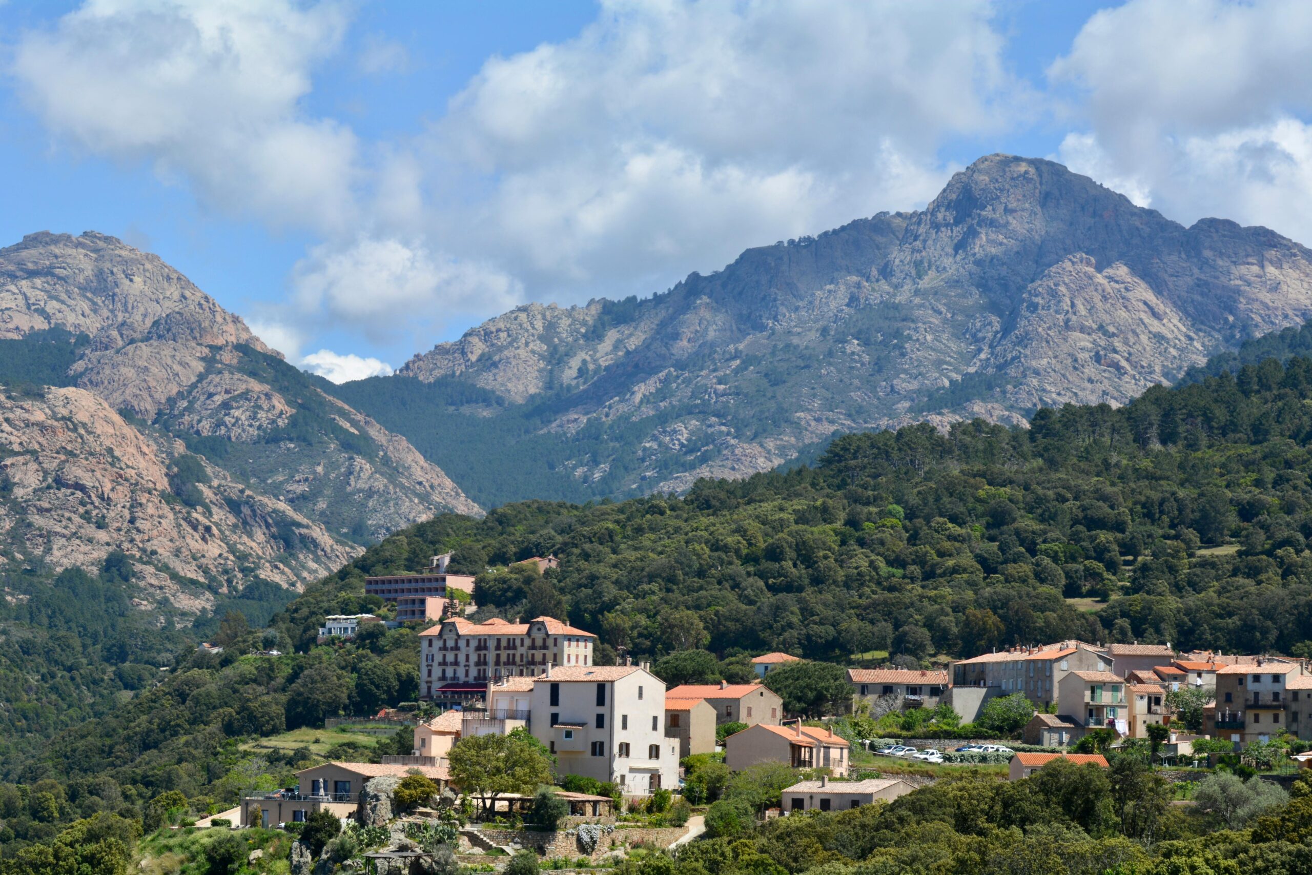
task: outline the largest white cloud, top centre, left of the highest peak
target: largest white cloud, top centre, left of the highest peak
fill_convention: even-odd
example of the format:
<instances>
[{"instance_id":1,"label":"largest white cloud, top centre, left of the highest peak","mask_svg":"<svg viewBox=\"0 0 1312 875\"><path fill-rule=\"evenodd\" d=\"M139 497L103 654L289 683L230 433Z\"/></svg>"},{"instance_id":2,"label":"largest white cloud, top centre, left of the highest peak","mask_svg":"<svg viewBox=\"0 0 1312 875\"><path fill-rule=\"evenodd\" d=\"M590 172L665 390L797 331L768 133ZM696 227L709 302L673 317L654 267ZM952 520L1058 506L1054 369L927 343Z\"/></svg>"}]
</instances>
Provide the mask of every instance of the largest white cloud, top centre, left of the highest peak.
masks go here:
<instances>
[{"instance_id":1,"label":"largest white cloud, top centre, left of the highest peak","mask_svg":"<svg viewBox=\"0 0 1312 875\"><path fill-rule=\"evenodd\" d=\"M932 197L945 138L1031 110L1002 49L977 3L604 3L451 101L426 144L434 223L535 293L655 291Z\"/></svg>"}]
</instances>

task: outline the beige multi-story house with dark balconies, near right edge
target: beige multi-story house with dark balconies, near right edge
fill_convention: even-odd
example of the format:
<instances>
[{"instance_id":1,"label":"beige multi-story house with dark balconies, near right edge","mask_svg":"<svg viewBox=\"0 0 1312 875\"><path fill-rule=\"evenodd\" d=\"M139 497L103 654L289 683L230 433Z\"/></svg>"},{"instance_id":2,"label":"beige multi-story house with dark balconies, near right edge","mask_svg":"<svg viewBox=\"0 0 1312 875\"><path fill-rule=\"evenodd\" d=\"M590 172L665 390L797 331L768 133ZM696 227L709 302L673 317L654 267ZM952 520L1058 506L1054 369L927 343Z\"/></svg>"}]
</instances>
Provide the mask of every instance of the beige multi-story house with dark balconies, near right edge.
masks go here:
<instances>
[{"instance_id":1,"label":"beige multi-story house with dark balconies, near right edge","mask_svg":"<svg viewBox=\"0 0 1312 875\"><path fill-rule=\"evenodd\" d=\"M1303 729L1309 690L1312 678L1292 660L1227 665L1216 670L1216 708L1204 715L1203 732L1240 744L1266 741L1282 731L1312 735Z\"/></svg>"}]
</instances>

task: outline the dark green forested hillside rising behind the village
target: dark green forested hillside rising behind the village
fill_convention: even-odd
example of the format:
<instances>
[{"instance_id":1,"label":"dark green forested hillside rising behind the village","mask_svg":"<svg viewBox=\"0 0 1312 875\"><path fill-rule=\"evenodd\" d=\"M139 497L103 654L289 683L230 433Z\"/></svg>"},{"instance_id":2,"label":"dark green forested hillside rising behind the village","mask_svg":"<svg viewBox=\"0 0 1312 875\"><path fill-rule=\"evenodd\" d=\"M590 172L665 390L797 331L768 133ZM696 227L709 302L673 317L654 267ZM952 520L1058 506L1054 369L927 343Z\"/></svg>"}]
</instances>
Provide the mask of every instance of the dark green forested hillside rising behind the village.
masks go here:
<instances>
[{"instance_id":1,"label":"dark green forested hillside rising behind the village","mask_svg":"<svg viewBox=\"0 0 1312 875\"><path fill-rule=\"evenodd\" d=\"M483 571L483 610L563 613L597 631L602 652L634 656L706 647L848 661L888 649L905 664L1068 636L1305 655L1309 441L1312 359L1267 359L1120 409L1040 411L1030 429L849 436L817 467L702 481L684 497L446 514L311 585L268 628L232 614L216 631L220 657L181 648L164 673L106 668L160 656L133 638L122 565L109 563L96 580L66 581L76 605L21 618L85 636L88 669L73 680L113 683L114 707L75 711L77 691L51 683L20 708L37 720L67 702L80 719L43 750L30 737L7 749L4 778L28 790L0 786L3 853L79 816L143 812L165 791L227 804L244 787L278 786L308 752L243 744L412 699L415 628L342 647L315 645L314 631L324 614L379 607L363 596L366 573L445 550L471 572L554 552L562 565L546 577ZM20 619L39 603L5 610ZM110 619L94 631L88 617L100 614ZM21 647L10 634L0 653ZM257 648L295 652L245 656ZM34 666L22 670L34 686ZM41 794L54 802L35 805Z\"/></svg>"}]
</instances>

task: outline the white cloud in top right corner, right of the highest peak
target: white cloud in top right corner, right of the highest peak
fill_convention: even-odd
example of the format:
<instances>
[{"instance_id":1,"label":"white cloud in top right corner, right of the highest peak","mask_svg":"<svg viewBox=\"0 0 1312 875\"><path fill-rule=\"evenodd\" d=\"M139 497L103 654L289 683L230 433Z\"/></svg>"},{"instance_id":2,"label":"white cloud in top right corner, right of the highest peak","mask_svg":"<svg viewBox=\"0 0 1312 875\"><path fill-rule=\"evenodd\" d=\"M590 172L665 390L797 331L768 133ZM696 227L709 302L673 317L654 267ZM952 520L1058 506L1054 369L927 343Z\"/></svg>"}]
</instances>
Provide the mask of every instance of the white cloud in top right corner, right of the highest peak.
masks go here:
<instances>
[{"instance_id":1,"label":"white cloud in top right corner, right of the highest peak","mask_svg":"<svg viewBox=\"0 0 1312 875\"><path fill-rule=\"evenodd\" d=\"M1131 0L1048 70L1088 129L1057 153L1172 218L1266 224L1312 243L1312 4Z\"/></svg>"}]
</instances>

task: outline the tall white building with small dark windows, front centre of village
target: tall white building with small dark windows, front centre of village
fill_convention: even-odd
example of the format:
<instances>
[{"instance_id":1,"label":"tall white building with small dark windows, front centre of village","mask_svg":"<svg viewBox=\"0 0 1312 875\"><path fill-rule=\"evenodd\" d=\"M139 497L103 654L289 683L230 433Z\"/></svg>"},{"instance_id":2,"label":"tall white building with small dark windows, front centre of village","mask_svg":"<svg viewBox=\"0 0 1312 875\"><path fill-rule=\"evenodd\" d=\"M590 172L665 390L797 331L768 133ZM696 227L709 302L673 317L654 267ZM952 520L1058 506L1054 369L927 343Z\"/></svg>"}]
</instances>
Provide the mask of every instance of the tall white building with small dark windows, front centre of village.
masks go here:
<instances>
[{"instance_id":1,"label":"tall white building with small dark windows, front centre of village","mask_svg":"<svg viewBox=\"0 0 1312 875\"><path fill-rule=\"evenodd\" d=\"M665 736L665 683L646 666L548 668L534 678L529 729L560 775L613 781L626 795L678 782L678 739Z\"/></svg>"}]
</instances>

